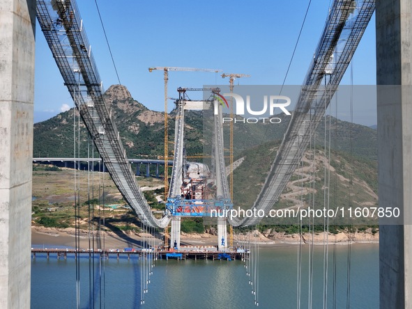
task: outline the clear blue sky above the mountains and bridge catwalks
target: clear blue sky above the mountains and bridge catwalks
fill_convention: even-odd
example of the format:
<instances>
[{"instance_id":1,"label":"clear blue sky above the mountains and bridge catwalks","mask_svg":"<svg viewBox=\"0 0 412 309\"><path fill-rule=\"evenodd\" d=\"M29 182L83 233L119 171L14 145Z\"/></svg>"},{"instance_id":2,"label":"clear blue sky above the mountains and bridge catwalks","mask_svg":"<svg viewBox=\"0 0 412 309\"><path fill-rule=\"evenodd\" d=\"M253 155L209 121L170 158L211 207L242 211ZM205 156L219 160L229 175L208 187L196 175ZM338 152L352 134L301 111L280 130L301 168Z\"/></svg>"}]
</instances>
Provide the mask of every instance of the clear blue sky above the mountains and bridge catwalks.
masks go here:
<instances>
[{"instance_id":1,"label":"clear blue sky above the mountains and bridge catwalks","mask_svg":"<svg viewBox=\"0 0 412 309\"><path fill-rule=\"evenodd\" d=\"M163 72L148 67L217 68L250 74L236 83L282 84L309 0L295 1L109 1L98 0L121 83L149 109L164 110ZM328 2L312 0L291 65L288 85L300 85L328 14ZM77 1L105 88L119 84L94 1ZM353 84L376 84L374 17L353 58ZM342 84L349 84L346 74ZM176 88L227 84L220 74L170 72ZM73 106L40 26L36 29L35 122ZM347 104L346 104L347 106ZM169 109L172 102L169 102ZM342 118L348 107L339 106ZM346 111L346 112L345 112ZM376 124L376 106L356 105L354 121Z\"/></svg>"}]
</instances>

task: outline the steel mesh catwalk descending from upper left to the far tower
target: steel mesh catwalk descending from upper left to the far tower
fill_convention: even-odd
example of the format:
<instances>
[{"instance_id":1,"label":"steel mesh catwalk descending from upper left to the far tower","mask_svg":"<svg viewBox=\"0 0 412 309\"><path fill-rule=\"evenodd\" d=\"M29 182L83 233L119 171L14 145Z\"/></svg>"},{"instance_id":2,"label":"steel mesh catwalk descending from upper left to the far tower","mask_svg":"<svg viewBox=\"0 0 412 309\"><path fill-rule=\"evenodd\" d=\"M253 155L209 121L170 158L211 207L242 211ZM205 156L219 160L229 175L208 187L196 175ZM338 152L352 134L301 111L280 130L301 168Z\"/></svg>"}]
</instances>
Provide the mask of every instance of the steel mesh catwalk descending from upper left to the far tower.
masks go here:
<instances>
[{"instance_id":1,"label":"steel mesh catwalk descending from upper left to the far tower","mask_svg":"<svg viewBox=\"0 0 412 309\"><path fill-rule=\"evenodd\" d=\"M76 1L37 1L36 16L61 76L103 163L125 201L144 225L165 228L170 214L155 219L121 143L112 110L103 97L102 81Z\"/></svg>"}]
</instances>

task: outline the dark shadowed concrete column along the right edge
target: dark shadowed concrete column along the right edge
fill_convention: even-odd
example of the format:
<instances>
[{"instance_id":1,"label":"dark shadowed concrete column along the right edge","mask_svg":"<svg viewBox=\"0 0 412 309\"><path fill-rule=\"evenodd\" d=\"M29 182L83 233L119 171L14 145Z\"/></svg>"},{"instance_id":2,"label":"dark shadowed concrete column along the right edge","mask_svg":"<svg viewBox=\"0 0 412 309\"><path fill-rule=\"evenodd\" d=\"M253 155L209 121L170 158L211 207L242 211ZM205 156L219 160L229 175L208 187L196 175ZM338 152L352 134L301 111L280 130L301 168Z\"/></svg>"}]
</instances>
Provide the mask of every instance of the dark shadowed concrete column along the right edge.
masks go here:
<instances>
[{"instance_id":1,"label":"dark shadowed concrete column along the right edge","mask_svg":"<svg viewBox=\"0 0 412 309\"><path fill-rule=\"evenodd\" d=\"M412 19L411 0L376 0L380 308L412 308ZM383 86L385 85L385 86Z\"/></svg>"}]
</instances>

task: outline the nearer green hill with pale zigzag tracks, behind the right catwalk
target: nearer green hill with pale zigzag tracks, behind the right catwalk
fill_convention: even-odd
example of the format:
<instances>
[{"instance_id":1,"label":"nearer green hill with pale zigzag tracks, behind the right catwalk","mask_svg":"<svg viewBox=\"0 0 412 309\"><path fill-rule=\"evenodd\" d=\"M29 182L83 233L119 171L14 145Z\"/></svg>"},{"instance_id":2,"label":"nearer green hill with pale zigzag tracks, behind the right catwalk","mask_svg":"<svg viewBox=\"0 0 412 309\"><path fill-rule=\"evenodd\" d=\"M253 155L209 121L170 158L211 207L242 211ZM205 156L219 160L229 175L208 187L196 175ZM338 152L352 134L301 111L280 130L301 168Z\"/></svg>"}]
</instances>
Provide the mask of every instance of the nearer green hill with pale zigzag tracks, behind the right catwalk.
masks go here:
<instances>
[{"instance_id":1,"label":"nearer green hill with pale zigzag tracks, behind the right catwalk","mask_svg":"<svg viewBox=\"0 0 412 309\"><path fill-rule=\"evenodd\" d=\"M275 159L279 141L245 150L243 162L234 171L234 205L250 208ZM326 189L326 192L325 192ZM347 152L322 146L308 149L302 164L291 175L274 209L307 207L324 203L336 207L377 207L377 162L356 158ZM327 200L324 198L328 195Z\"/></svg>"}]
</instances>

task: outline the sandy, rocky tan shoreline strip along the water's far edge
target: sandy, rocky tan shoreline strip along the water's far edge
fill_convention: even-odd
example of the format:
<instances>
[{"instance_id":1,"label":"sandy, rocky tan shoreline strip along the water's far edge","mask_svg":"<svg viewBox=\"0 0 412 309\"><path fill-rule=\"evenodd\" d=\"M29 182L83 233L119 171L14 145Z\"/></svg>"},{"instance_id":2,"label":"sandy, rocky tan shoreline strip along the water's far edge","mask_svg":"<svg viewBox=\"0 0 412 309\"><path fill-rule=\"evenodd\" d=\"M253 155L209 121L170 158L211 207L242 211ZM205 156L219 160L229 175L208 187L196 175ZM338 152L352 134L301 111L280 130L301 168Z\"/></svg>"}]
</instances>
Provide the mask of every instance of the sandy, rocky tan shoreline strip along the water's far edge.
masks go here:
<instances>
[{"instance_id":1,"label":"sandy, rocky tan shoreline strip along the water's far edge","mask_svg":"<svg viewBox=\"0 0 412 309\"><path fill-rule=\"evenodd\" d=\"M92 246L93 235L90 235L87 230L80 231L80 244L79 248L90 248ZM100 244L103 243L105 248L126 248L126 247L138 247L144 241L144 233L135 234L125 232L102 232L102 239L100 239ZM339 232L337 235L329 234L328 237L324 237L324 233L316 233L316 235L306 235L303 234L302 240L300 240L300 235L284 235L284 233L276 233L275 235L268 235L265 237L260 232L254 231L254 237L257 239L255 241L250 241L252 244L259 244L259 246L264 247L282 247L282 246L296 246L302 244L303 246L311 245L312 241L309 241L310 237L313 237L314 246L323 246L326 243L329 245L348 245L348 244L379 244L379 232L375 234L367 232L356 232L351 234L351 241L349 237L344 232ZM250 240L250 235L235 235L234 244L236 242L243 242ZM326 242L326 239L328 240ZM335 240L335 241L334 241ZM99 243L99 238L94 237L95 248ZM65 248L75 248L75 229L66 228L44 228L44 227L31 227L31 246L44 246L44 247L65 247ZM161 245L162 241L158 239L155 242L157 245ZM182 246L216 246L218 244L218 237L210 234L185 234L181 235ZM99 248L100 246L97 246Z\"/></svg>"}]
</instances>

